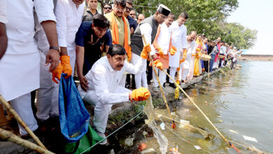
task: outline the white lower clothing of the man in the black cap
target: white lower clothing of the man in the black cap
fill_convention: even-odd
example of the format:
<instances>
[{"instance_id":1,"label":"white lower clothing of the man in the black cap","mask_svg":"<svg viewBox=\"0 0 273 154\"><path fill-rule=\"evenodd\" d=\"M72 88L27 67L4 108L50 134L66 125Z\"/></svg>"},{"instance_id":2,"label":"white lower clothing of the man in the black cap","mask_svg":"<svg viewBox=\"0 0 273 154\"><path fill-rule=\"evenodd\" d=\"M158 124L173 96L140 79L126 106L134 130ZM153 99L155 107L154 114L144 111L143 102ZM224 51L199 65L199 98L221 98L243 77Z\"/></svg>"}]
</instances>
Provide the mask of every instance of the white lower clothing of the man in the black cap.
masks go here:
<instances>
[{"instance_id":1,"label":"white lower clothing of the man in the black cap","mask_svg":"<svg viewBox=\"0 0 273 154\"><path fill-rule=\"evenodd\" d=\"M132 53L132 59L131 59L132 64L136 65L140 58L141 57L139 55L136 55L136 54ZM145 62L145 64L142 67L141 71L134 75L134 80L136 82L136 87L137 88L139 88L141 86L148 88L147 75L146 75L146 65L147 65L147 63Z\"/></svg>"}]
</instances>

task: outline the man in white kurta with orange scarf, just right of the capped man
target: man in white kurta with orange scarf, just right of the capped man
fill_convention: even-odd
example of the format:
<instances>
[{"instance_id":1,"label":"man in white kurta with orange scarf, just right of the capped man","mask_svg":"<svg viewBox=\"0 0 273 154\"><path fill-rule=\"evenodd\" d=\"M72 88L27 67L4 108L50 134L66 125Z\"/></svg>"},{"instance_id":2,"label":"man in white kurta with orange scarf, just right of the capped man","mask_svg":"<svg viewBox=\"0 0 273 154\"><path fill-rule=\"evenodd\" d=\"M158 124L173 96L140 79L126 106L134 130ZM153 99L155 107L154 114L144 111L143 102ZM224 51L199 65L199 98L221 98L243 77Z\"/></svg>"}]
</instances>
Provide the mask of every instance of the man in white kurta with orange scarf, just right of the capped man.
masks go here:
<instances>
[{"instance_id":1,"label":"man in white kurta with orange scarf, just right of the capped man","mask_svg":"<svg viewBox=\"0 0 273 154\"><path fill-rule=\"evenodd\" d=\"M163 69L167 71L169 69L169 52L170 55L174 55L176 50L172 48L172 31L169 26L172 25L174 21L174 15L169 13L168 18L161 25L158 26L158 33L155 36L155 41L153 41L153 47L155 48L155 54L158 56L158 60L162 62ZM162 70L156 69L158 73L158 78L162 88L165 88L163 84L166 82L166 73ZM158 79L155 76L155 71L153 71L153 91L158 92Z\"/></svg>"}]
</instances>

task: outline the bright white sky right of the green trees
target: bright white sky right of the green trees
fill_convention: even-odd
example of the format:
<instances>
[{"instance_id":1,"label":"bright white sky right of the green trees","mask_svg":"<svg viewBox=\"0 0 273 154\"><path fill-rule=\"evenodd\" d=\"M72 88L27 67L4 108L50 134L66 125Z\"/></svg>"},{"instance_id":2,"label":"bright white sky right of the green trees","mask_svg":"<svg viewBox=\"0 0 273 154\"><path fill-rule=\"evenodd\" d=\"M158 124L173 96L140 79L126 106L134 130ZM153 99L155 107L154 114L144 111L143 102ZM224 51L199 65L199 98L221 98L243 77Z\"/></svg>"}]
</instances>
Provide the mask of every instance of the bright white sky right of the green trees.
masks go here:
<instances>
[{"instance_id":1,"label":"bright white sky right of the green trees","mask_svg":"<svg viewBox=\"0 0 273 154\"><path fill-rule=\"evenodd\" d=\"M228 22L258 30L257 41L249 52L273 55L273 0L239 0Z\"/></svg>"}]
</instances>

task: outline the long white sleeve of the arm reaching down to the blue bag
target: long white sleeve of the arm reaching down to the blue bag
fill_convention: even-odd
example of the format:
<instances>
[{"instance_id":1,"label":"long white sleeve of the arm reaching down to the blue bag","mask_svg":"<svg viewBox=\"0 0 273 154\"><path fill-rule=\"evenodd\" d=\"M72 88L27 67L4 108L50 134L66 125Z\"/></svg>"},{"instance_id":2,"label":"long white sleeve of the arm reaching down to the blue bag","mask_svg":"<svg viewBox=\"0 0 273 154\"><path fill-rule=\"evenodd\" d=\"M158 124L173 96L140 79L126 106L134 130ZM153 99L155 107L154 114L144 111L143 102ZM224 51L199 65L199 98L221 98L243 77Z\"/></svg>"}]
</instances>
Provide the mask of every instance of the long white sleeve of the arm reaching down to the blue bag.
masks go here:
<instances>
[{"instance_id":1,"label":"long white sleeve of the arm reaching down to the blue bag","mask_svg":"<svg viewBox=\"0 0 273 154\"><path fill-rule=\"evenodd\" d=\"M60 47L67 47L66 45L66 19L67 19L67 9L68 6L64 1L57 1L56 8L55 8L55 16L57 20L57 37L58 43Z\"/></svg>"}]
</instances>

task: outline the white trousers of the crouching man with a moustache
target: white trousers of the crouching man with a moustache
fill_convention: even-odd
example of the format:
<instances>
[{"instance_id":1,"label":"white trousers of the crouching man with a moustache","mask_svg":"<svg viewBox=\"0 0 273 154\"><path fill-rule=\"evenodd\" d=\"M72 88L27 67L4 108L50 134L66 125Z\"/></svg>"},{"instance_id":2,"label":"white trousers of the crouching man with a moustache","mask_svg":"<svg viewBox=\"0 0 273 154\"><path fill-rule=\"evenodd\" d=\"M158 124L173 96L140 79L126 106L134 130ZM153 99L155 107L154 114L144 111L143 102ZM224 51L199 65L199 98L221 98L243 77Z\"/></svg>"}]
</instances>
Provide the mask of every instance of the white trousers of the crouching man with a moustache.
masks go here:
<instances>
[{"instance_id":1,"label":"white trousers of the crouching man with a moustache","mask_svg":"<svg viewBox=\"0 0 273 154\"><path fill-rule=\"evenodd\" d=\"M131 92L131 90L118 86L117 92ZM105 104L104 102L100 102L94 90L88 91L83 97L83 100L94 106L93 126L97 131L104 133L106 130L108 116L111 112L113 104Z\"/></svg>"}]
</instances>

